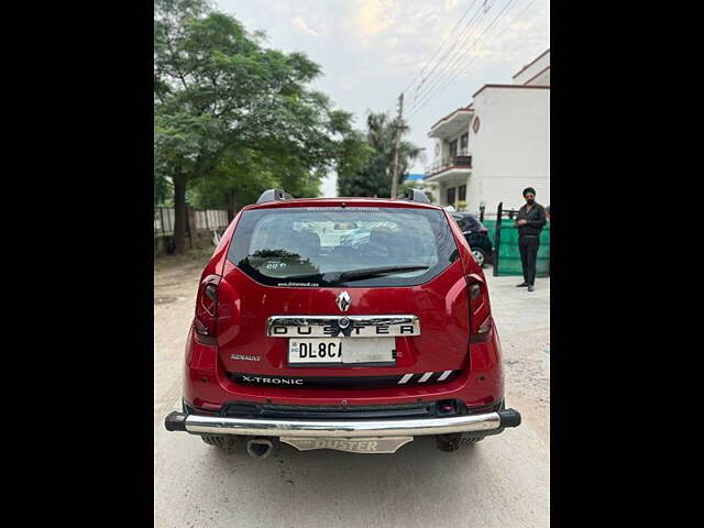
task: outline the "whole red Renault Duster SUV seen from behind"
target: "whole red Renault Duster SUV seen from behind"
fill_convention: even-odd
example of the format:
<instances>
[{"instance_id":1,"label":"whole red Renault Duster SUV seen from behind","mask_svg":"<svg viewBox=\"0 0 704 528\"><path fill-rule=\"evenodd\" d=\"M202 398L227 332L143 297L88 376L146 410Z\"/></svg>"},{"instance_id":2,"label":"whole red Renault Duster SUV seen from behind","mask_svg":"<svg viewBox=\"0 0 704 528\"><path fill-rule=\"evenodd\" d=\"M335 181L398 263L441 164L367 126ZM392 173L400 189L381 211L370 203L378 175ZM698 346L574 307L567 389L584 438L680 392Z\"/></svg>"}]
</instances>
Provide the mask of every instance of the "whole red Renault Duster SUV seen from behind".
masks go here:
<instances>
[{"instance_id":1,"label":"whole red Renault Duster SUV seen from behind","mask_svg":"<svg viewBox=\"0 0 704 528\"><path fill-rule=\"evenodd\" d=\"M226 450L245 438L254 458L275 439L393 453L432 435L453 451L520 424L484 274L419 191L265 191L202 272L185 366L166 428Z\"/></svg>"}]
</instances>

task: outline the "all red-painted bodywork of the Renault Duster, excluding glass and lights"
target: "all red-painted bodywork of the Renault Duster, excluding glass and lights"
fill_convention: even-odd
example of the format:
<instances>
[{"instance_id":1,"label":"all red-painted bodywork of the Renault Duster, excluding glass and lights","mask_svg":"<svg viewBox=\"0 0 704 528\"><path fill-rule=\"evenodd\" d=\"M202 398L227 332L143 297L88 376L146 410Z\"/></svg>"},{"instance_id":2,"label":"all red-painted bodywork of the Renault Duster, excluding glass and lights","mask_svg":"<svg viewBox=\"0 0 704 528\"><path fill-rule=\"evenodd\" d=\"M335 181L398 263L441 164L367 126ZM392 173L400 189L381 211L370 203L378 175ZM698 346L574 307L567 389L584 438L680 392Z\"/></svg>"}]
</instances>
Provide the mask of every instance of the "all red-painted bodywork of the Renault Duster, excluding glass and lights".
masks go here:
<instances>
[{"instance_id":1,"label":"all red-painted bodywork of the Renault Duster, excluding glass and lights","mask_svg":"<svg viewBox=\"0 0 704 528\"><path fill-rule=\"evenodd\" d=\"M392 405L457 398L469 407L496 404L504 397L501 345L491 320L479 342L470 340L468 277L484 283L470 246L457 222L444 212L459 258L428 283L405 287L296 288L256 283L232 262L228 248L237 224L246 210L286 207L374 206L384 208L430 208L419 202L371 198L292 199L244 208L224 232L201 282L219 278L217 338L204 341L194 331L186 345L184 399L200 413L217 413L229 402L282 405ZM336 296L346 290L352 306L346 315L416 315L420 336L396 338L400 352L395 366L294 367L287 365L285 338L266 336L266 320L277 315L338 315ZM260 355L261 361L232 360L232 354ZM430 371L461 371L446 382L386 388L305 388L244 385L228 372L275 376L388 376Z\"/></svg>"}]
</instances>

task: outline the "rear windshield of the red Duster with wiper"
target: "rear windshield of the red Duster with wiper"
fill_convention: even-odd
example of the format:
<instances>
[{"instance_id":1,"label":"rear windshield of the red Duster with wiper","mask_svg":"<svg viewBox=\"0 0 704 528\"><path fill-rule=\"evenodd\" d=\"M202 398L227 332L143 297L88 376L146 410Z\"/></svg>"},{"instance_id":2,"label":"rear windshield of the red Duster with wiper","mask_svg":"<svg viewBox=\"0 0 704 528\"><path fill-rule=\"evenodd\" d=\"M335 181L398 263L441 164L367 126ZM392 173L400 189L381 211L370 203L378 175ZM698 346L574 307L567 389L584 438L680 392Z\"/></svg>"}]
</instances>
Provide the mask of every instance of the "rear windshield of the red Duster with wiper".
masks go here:
<instances>
[{"instance_id":1,"label":"rear windshield of the red Duster with wiper","mask_svg":"<svg viewBox=\"0 0 704 528\"><path fill-rule=\"evenodd\" d=\"M228 258L270 286L411 286L458 249L439 210L301 207L243 212Z\"/></svg>"}]
</instances>

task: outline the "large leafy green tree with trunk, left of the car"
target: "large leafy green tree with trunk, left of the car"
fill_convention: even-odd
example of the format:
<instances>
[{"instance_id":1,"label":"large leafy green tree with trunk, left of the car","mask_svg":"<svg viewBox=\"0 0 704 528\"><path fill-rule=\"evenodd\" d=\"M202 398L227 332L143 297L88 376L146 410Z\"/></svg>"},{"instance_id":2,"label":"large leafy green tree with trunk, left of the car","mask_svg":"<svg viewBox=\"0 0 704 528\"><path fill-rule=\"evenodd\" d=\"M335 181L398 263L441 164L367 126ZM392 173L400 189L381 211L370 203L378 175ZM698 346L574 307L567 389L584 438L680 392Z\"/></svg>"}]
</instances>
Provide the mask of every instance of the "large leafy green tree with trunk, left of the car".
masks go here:
<instances>
[{"instance_id":1,"label":"large leafy green tree with trunk, left of the car","mask_svg":"<svg viewBox=\"0 0 704 528\"><path fill-rule=\"evenodd\" d=\"M320 68L304 54L263 48L202 0L154 6L155 177L173 184L180 253L189 187L230 210L270 183L316 191L350 118L307 88Z\"/></svg>"}]
</instances>

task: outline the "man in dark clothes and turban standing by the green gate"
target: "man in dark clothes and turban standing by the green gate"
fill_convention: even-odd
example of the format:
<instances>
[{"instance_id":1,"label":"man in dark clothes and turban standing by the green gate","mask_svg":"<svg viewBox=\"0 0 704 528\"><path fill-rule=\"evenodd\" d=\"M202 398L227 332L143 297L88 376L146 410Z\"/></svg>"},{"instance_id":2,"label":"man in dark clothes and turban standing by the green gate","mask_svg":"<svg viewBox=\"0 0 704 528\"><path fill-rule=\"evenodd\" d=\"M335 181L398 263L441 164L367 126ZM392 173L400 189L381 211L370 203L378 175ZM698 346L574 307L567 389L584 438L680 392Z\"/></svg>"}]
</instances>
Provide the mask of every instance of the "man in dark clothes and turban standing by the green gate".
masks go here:
<instances>
[{"instance_id":1,"label":"man in dark clothes and turban standing by the green gate","mask_svg":"<svg viewBox=\"0 0 704 528\"><path fill-rule=\"evenodd\" d=\"M524 282L518 287L528 287L534 290L536 282L536 261L538 248L540 248L540 231L546 224L546 209L536 201L536 189L524 189L526 205L518 209L515 226L518 228L518 249L520 250L520 263L524 268Z\"/></svg>"}]
</instances>

